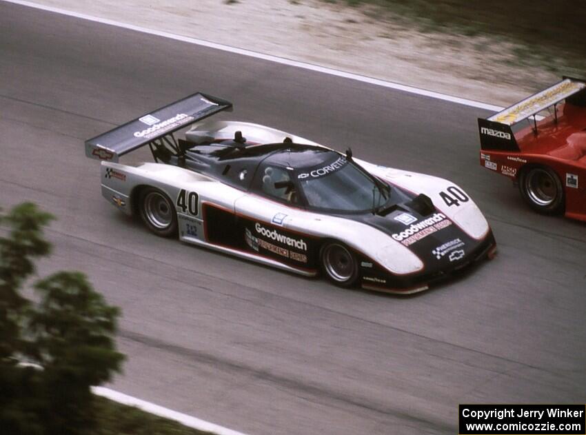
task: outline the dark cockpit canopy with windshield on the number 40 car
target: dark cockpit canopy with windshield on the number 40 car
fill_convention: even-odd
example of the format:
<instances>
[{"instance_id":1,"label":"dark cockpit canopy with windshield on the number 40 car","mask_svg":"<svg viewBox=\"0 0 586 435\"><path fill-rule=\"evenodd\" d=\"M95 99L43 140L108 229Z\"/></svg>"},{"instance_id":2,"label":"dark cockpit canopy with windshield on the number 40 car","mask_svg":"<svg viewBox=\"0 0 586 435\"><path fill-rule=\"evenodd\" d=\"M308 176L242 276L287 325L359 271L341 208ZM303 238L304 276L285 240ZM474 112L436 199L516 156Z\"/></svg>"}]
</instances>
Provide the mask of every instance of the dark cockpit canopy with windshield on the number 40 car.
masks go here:
<instances>
[{"instance_id":1,"label":"dark cockpit canopy with windshield on the number 40 car","mask_svg":"<svg viewBox=\"0 0 586 435\"><path fill-rule=\"evenodd\" d=\"M315 145L196 145L188 168L273 201L310 210L368 212L387 202L388 185L344 154Z\"/></svg>"}]
</instances>

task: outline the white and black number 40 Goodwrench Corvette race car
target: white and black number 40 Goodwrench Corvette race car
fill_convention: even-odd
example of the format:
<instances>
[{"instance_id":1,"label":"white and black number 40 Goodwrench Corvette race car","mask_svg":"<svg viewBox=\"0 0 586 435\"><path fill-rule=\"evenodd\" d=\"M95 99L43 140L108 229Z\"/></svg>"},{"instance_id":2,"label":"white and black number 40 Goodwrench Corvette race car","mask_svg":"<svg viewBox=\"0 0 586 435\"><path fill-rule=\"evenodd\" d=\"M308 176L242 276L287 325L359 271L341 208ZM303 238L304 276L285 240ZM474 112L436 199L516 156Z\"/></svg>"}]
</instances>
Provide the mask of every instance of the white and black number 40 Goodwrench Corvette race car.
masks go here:
<instances>
[{"instance_id":1,"label":"white and black number 40 Goodwrench Corvette race car","mask_svg":"<svg viewBox=\"0 0 586 435\"><path fill-rule=\"evenodd\" d=\"M159 236L343 287L418 292L496 252L454 183L262 125L200 122L231 108L196 93L86 141L105 199ZM143 145L155 163L116 163Z\"/></svg>"}]
</instances>

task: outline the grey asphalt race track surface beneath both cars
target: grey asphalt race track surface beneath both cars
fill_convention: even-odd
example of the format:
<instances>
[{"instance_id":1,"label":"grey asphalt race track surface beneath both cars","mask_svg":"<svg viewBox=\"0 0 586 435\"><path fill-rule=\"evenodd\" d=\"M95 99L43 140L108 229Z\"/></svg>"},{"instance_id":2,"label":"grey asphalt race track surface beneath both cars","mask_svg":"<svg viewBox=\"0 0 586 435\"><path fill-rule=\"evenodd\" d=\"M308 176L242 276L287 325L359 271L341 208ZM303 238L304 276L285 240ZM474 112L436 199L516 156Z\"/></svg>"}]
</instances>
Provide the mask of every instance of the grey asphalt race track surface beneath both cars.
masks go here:
<instances>
[{"instance_id":1,"label":"grey asphalt race track surface beneath both cars","mask_svg":"<svg viewBox=\"0 0 586 435\"><path fill-rule=\"evenodd\" d=\"M196 90L452 179L498 256L398 297L151 235L102 199L83 140ZM57 215L39 273L83 270L122 308L115 390L250 434L455 434L458 403L584 403L586 225L478 165L482 110L3 2L0 103L0 205Z\"/></svg>"}]
</instances>

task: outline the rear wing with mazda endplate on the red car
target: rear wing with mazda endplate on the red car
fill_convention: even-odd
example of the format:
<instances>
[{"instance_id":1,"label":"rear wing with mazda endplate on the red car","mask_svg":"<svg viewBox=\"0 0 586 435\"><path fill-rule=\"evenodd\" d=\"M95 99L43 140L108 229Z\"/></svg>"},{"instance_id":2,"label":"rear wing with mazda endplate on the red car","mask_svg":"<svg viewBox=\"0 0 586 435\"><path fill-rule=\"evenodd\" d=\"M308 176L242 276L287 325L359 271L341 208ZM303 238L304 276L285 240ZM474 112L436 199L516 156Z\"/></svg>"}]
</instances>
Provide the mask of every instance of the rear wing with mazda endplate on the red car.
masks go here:
<instances>
[{"instance_id":1,"label":"rear wing with mazda endplate on the red car","mask_svg":"<svg viewBox=\"0 0 586 435\"><path fill-rule=\"evenodd\" d=\"M556 105L565 99L572 103L586 99L586 81L563 77L555 85L533 94L531 97L514 103L508 108L495 113L487 119L478 118L478 132L483 150L519 151L512 126L529 117L533 117L534 132L537 134L536 114L554 106L554 117L557 121ZM585 91L585 92L583 92ZM576 95L580 92L580 95ZM576 99L579 97L579 99ZM578 101L579 100L579 101Z\"/></svg>"}]
</instances>

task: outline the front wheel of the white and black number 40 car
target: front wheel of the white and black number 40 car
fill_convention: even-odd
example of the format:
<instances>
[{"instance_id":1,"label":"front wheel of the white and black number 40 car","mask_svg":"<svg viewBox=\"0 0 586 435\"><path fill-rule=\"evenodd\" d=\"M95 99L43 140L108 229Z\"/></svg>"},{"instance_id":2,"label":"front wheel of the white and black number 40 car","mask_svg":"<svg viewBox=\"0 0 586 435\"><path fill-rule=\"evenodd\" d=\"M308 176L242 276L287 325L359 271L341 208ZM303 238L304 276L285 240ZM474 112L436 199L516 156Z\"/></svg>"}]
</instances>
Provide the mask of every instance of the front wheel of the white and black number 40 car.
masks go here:
<instances>
[{"instance_id":1,"label":"front wheel of the white and black number 40 car","mask_svg":"<svg viewBox=\"0 0 586 435\"><path fill-rule=\"evenodd\" d=\"M343 243L328 241L320 250L323 272L327 278L340 287L352 287L358 281L360 270L352 251Z\"/></svg>"}]
</instances>

